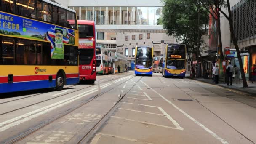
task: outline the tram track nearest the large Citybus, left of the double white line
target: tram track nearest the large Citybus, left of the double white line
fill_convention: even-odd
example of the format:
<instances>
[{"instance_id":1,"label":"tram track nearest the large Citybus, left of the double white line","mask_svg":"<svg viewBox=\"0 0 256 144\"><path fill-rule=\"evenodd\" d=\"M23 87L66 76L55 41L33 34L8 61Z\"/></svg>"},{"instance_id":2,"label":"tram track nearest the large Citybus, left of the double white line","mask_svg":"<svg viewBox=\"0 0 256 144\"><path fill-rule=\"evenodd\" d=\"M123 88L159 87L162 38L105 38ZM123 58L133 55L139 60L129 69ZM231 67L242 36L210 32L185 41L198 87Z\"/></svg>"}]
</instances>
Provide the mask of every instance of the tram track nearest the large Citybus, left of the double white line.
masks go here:
<instances>
[{"instance_id":1,"label":"tram track nearest the large Citybus, left of the double white line","mask_svg":"<svg viewBox=\"0 0 256 144\"><path fill-rule=\"evenodd\" d=\"M125 76L129 76L129 75L125 75ZM121 77L122 77L122 76L121 76ZM113 78L113 79L110 79L109 81L112 82L112 80L116 80L116 79L119 79L119 78L120 78L120 77ZM100 79L100 80L103 80L103 78ZM96 85L99 85L99 81L100 81L100 80L98 80L98 84L96 84ZM52 97L52 98L50 98L50 99L45 99L44 101L39 101L39 102L36 102L36 103L33 103L33 104L29 104L29 105L24 106L24 107L20 107L20 108L18 108L18 109L13 109L13 110L11 110L11 111L1 113L0 116L1 116L1 115L5 115L5 114L8 114L8 113L11 113L11 112L15 112L15 111L20 110L20 109L24 109L24 108L26 108L26 107L31 107L31 106L34 106L34 105L36 105L36 104L43 103L43 102L45 102L45 101L50 101L50 100L52 100L52 99L56 99L56 98L59 98L59 97L62 97L62 96L67 96L67 95L69 95L69 94L71 94L71 93L75 93L75 92L77 92L77 91L81 91L81 90L84 90L84 89L86 89L86 88L90 88L90 87L93 87L93 86L96 86L96 85L90 85L90 86L85 87L85 88L80 88L80 89L78 89L78 90L76 90L76 91L67 92L67 93L61 94L61 95L59 95L59 96ZM72 86L70 86L70 87L74 87L74 86L77 86L77 85L72 85ZM68 88L70 88L70 87L68 87ZM46 93L48 93L48 92L46 92ZM18 100L26 99L26 98L33 97L33 96L40 96L40 95L43 95L43 94L45 94L45 93L38 93L37 95L27 96L27 97L24 97L24 98L15 99L15 100L11 100L11 101L5 101L5 102L0 103L0 104L6 104L6 103L8 103L8 102L18 101Z\"/></svg>"}]
</instances>

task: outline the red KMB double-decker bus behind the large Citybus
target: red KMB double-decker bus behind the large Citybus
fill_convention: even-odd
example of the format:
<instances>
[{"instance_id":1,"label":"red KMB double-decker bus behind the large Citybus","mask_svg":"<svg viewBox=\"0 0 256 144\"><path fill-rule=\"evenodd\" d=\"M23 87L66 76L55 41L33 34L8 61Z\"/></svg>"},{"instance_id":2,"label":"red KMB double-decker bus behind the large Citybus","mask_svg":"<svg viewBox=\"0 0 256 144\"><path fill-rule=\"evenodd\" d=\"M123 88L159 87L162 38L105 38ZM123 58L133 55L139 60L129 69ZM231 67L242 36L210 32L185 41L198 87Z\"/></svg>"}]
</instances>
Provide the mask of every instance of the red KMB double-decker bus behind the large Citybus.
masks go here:
<instances>
[{"instance_id":1,"label":"red KMB double-decker bus behind the large Citybus","mask_svg":"<svg viewBox=\"0 0 256 144\"><path fill-rule=\"evenodd\" d=\"M94 21L77 20L79 32L80 81L94 83L96 80L96 39Z\"/></svg>"}]
</instances>

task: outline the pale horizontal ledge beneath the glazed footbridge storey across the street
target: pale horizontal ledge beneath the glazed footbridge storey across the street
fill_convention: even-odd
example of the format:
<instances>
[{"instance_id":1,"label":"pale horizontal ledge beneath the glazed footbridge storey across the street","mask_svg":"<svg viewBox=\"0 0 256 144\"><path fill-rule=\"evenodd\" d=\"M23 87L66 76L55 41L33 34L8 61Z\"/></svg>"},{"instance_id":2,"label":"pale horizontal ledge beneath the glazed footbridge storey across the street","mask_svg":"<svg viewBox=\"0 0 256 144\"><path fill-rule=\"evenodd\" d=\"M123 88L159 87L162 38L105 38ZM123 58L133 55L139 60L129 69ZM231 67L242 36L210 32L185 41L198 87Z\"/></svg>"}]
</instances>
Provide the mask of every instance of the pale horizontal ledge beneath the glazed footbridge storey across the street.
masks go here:
<instances>
[{"instance_id":1,"label":"pale horizontal ledge beneath the glazed footbridge storey across the street","mask_svg":"<svg viewBox=\"0 0 256 144\"><path fill-rule=\"evenodd\" d=\"M166 33L162 25L96 25L96 32Z\"/></svg>"}]
</instances>

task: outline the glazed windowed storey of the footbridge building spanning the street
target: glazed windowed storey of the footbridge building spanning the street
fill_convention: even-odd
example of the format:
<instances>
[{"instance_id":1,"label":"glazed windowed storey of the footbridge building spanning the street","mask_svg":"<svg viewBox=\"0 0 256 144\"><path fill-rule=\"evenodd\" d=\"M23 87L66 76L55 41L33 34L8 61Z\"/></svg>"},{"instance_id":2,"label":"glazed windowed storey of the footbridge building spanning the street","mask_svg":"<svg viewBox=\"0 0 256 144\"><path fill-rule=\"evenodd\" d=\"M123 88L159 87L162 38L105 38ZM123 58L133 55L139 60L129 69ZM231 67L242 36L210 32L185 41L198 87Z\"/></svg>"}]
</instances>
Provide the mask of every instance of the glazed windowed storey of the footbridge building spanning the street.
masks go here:
<instances>
[{"instance_id":1,"label":"glazed windowed storey of the footbridge building spanning the street","mask_svg":"<svg viewBox=\"0 0 256 144\"><path fill-rule=\"evenodd\" d=\"M157 25L162 16L162 7L69 7L81 20L95 24Z\"/></svg>"}]
</instances>

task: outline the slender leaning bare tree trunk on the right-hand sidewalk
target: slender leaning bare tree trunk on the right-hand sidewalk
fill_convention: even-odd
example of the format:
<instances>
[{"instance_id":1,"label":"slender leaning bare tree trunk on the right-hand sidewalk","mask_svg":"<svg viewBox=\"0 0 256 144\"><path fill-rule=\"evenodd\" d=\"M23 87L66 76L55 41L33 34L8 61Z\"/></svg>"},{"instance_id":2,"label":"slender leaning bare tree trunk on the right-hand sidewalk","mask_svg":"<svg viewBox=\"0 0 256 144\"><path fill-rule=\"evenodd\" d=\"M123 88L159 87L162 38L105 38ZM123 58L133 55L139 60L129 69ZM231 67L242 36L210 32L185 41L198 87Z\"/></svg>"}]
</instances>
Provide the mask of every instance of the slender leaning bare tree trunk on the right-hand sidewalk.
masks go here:
<instances>
[{"instance_id":1,"label":"slender leaning bare tree trunk on the right-hand sidewalk","mask_svg":"<svg viewBox=\"0 0 256 144\"><path fill-rule=\"evenodd\" d=\"M237 58L238 58L238 61L239 61L240 72L241 72L241 76L242 76L242 80L243 80L243 87L247 88L248 84L247 84L247 81L246 81L246 78L245 78L245 71L243 69L243 62L242 62L242 58L241 58L240 49L239 49L239 46L237 44L237 39L236 39L235 32L234 32L233 21L232 21L232 14L231 14L229 0L227 0L227 10L228 10L228 15L224 11L222 11L222 9L220 9L221 13L229 21L230 35L231 35L231 38L233 40L233 44L235 45L235 50L237 52Z\"/></svg>"}]
</instances>

